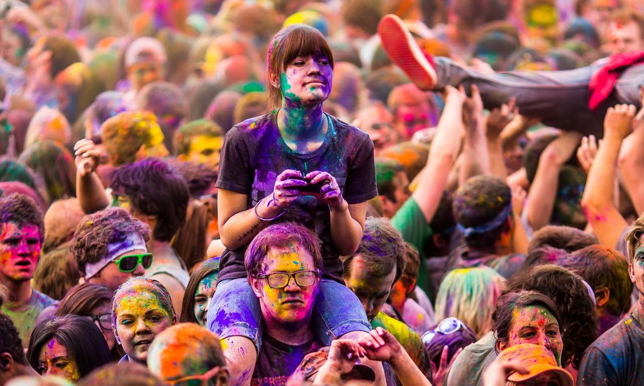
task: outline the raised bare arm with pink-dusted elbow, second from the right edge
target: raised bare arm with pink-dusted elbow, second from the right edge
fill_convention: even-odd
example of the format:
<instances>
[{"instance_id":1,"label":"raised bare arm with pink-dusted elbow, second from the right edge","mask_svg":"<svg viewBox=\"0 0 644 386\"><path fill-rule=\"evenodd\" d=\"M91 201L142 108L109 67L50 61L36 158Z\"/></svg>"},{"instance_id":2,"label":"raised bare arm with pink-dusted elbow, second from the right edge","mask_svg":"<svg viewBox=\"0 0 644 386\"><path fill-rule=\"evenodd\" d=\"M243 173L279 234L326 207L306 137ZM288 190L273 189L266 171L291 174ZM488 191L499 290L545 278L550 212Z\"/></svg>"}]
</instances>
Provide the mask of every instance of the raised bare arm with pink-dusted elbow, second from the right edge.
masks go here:
<instances>
[{"instance_id":1,"label":"raised bare arm with pink-dusted elbow, second from the right edge","mask_svg":"<svg viewBox=\"0 0 644 386\"><path fill-rule=\"evenodd\" d=\"M604 136L588 172L582 208L600 243L615 248L628 226L614 205L615 169L622 140L630 133L635 106L609 107L604 118Z\"/></svg>"}]
</instances>

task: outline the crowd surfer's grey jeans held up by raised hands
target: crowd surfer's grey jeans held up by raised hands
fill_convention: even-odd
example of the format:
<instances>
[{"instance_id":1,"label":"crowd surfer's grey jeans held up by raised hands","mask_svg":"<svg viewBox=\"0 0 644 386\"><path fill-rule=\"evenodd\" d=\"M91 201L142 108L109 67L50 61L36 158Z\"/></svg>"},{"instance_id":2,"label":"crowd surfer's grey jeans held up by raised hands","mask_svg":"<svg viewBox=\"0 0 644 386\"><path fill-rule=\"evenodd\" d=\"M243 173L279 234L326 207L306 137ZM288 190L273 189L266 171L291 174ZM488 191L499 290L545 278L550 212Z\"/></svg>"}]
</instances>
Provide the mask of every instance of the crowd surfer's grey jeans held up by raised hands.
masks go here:
<instances>
[{"instance_id":1,"label":"crowd surfer's grey jeans held up by raised hands","mask_svg":"<svg viewBox=\"0 0 644 386\"><path fill-rule=\"evenodd\" d=\"M462 68L451 59L435 57L437 86L475 84L486 109L507 103L511 96L522 115L540 118L545 125L585 135L603 135L603 118L608 107L634 104L638 108L639 87L644 86L644 65L625 69L609 98L598 111L588 107L588 84L594 73L606 62L598 60L591 66L567 71L507 71L484 75Z\"/></svg>"}]
</instances>

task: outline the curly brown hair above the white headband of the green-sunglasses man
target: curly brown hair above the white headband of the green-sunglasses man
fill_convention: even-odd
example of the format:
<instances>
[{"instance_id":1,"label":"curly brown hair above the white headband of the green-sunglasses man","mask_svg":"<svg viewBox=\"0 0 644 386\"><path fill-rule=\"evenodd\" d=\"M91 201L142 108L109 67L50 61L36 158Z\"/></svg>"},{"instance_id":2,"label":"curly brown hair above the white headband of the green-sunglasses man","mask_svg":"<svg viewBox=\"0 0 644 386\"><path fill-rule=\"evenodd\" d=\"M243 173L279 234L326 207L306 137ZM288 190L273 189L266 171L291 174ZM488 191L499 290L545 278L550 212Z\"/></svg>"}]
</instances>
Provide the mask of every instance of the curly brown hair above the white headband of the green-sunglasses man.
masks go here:
<instances>
[{"instance_id":1,"label":"curly brown hair above the white headband of the green-sunglasses man","mask_svg":"<svg viewBox=\"0 0 644 386\"><path fill-rule=\"evenodd\" d=\"M70 241L70 251L84 272L85 264L98 262L108 254L108 244L123 241L129 234L140 234L148 241L149 233L149 226L127 210L108 207L83 217Z\"/></svg>"}]
</instances>

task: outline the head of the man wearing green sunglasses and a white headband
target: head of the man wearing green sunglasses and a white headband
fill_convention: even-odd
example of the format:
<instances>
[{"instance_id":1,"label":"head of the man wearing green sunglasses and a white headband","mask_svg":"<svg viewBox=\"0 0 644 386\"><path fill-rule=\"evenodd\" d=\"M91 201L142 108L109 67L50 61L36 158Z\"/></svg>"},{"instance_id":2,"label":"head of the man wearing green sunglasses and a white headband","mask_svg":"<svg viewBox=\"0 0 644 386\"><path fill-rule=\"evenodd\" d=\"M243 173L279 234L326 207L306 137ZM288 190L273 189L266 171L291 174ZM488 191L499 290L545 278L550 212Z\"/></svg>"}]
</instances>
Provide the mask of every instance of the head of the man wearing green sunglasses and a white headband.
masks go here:
<instances>
[{"instance_id":1,"label":"head of the man wearing green sunglasses and a white headband","mask_svg":"<svg viewBox=\"0 0 644 386\"><path fill-rule=\"evenodd\" d=\"M149 227L126 210L109 207L85 216L70 243L84 281L116 290L150 268Z\"/></svg>"}]
</instances>

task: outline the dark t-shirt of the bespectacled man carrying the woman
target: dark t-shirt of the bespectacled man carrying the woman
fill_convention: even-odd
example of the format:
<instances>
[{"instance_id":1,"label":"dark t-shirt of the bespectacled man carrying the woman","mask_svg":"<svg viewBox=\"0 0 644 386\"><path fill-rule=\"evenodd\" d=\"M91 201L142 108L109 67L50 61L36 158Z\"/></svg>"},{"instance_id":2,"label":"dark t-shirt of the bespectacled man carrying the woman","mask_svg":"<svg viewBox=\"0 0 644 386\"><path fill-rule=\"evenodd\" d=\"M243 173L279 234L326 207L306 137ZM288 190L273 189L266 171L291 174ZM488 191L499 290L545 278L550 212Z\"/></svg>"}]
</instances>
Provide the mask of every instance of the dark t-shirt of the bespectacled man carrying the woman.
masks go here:
<instances>
[{"instance_id":1,"label":"dark t-shirt of the bespectacled man carrying the woman","mask_svg":"<svg viewBox=\"0 0 644 386\"><path fill-rule=\"evenodd\" d=\"M264 334L261 340L260 355L252 373L251 386L285 386L290 374L307 354L324 347L316 337L303 345L288 345Z\"/></svg>"}]
</instances>

